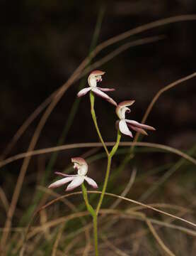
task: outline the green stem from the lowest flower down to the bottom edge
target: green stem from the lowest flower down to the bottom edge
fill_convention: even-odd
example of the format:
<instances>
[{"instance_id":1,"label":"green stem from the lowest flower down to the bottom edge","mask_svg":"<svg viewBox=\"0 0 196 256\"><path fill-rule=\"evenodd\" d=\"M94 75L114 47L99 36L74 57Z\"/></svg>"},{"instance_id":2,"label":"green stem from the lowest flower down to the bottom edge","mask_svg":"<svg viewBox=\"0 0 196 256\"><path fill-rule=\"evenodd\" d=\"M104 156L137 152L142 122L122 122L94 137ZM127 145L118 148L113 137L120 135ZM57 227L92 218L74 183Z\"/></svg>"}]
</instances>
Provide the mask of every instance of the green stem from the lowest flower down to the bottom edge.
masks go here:
<instances>
[{"instance_id":1,"label":"green stem from the lowest flower down to the bottom edge","mask_svg":"<svg viewBox=\"0 0 196 256\"><path fill-rule=\"evenodd\" d=\"M93 235L94 235L95 252L96 252L96 256L98 256L98 217L96 215L96 211L88 202L88 194L84 184L81 185L81 188L82 188L83 200L86 203L86 208L88 212L91 214L91 216L93 217Z\"/></svg>"}]
</instances>

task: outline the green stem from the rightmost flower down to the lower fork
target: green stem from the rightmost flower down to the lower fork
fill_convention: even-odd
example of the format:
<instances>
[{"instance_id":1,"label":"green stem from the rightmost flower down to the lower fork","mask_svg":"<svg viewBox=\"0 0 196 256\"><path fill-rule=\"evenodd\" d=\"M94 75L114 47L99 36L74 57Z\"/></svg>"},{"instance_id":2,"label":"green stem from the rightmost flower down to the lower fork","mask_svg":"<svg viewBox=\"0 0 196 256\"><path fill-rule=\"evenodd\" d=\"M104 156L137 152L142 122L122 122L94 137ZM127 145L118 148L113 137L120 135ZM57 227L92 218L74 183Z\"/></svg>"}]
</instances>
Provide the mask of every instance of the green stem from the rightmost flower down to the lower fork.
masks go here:
<instances>
[{"instance_id":1,"label":"green stem from the rightmost flower down to the lower fork","mask_svg":"<svg viewBox=\"0 0 196 256\"><path fill-rule=\"evenodd\" d=\"M117 142L115 143L115 146L113 146L113 149L110 151L110 154L108 155L108 165L107 165L107 170L106 170L106 174L105 174L105 181L103 183L103 189L102 189L102 192L100 194L100 199L98 201L98 206L96 208L96 215L98 215L98 212L100 210L100 206L103 202L103 197L105 196L105 191L106 191L106 188L107 188L107 185L108 185L108 178L110 176L110 168L111 168L112 158L115 155L115 152L117 151L117 148L118 148L119 143L120 143L120 138L121 138L121 133L118 130L117 131Z\"/></svg>"}]
</instances>

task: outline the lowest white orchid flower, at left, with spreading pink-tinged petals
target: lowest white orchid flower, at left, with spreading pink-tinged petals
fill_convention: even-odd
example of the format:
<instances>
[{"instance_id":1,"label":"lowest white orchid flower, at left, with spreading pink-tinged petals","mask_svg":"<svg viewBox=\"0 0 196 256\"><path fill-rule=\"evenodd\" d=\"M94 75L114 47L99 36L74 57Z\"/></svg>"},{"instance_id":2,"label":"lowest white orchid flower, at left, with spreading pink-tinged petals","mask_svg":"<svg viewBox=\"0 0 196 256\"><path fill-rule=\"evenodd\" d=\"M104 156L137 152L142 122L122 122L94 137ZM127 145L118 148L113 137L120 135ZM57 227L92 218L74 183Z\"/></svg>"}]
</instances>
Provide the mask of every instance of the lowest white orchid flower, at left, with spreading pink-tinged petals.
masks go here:
<instances>
[{"instance_id":1,"label":"lowest white orchid flower, at left, with spreading pink-tinged petals","mask_svg":"<svg viewBox=\"0 0 196 256\"><path fill-rule=\"evenodd\" d=\"M86 161L84 159L82 159L81 157L74 157L71 158L71 162L74 163L74 169L78 170L78 174L68 175L62 174L60 172L55 172L55 174L59 174L61 176L64 176L65 178L62 178L59 181L55 181L54 183L50 184L48 188L57 188L68 183L69 181L71 181L71 183L67 186L66 191L71 191L74 188L80 186L83 181L86 181L93 188L98 188L96 181L86 176L86 173L88 171L88 164L86 164Z\"/></svg>"}]
</instances>

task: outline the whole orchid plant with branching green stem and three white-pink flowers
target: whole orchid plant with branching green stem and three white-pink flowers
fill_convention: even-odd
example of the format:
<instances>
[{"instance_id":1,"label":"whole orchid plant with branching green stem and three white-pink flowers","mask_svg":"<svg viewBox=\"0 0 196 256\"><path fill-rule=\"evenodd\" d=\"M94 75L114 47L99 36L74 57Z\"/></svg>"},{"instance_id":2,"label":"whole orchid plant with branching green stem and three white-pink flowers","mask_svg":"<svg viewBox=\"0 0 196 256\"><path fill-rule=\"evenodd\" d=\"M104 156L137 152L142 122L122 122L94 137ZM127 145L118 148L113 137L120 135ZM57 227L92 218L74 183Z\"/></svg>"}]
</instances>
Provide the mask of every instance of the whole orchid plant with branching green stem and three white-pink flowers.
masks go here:
<instances>
[{"instance_id":1,"label":"whole orchid plant with branching green stem and three white-pink flowers","mask_svg":"<svg viewBox=\"0 0 196 256\"><path fill-rule=\"evenodd\" d=\"M83 193L83 199L86 203L86 208L88 212L93 217L93 234L94 234L94 244L95 244L95 254L98 256L98 213L100 210L100 206L103 202L103 198L105 195L105 191L108 185L108 179L110 176L110 168L111 168L111 162L112 158L115 155L117 148L120 144L120 139L122 134L128 135L129 137L133 137L132 132L129 129L134 130L135 132L139 132L141 134L147 135L145 130L151 130L154 131L154 127L151 127L146 124L140 124L137 121L126 119L125 114L126 112L130 112L129 106L134 104L134 100L127 100L124 102L121 102L117 105L115 100L113 100L111 97L109 97L105 92L113 91L115 89L113 88L102 88L98 87L97 83L102 81L102 75L104 75L105 72L100 70L94 70L91 72L91 74L88 76L88 85L89 87L83 88L80 90L77 94L78 97L81 97L83 95L86 95L87 92L90 92L90 102L91 102L91 115L93 117L93 122L96 127L96 131L98 133L98 137L100 139L100 142L102 142L103 147L105 149L105 153L108 157L108 165L105 173L105 179L103 182L103 189L100 194L100 199L98 201L97 207L94 209L93 206L88 201L88 193L86 191L86 187L84 186L83 182L86 181L90 186L93 188L98 188L98 185L96 181L94 181L92 178L89 178L86 176L88 171L88 164L84 159L81 157L74 157L71 159L71 162L74 163L74 169L77 169L78 174L76 175L68 175L68 174L62 174L60 172L56 172L55 174L58 174L60 176L63 176L64 178L61 178L58 181L55 181L52 183L49 188L56 188L59 186L62 186L66 183L69 183L69 185L66 188L66 191L71 191L76 187L81 186L82 193ZM96 119L96 112L94 110L94 103L95 103L95 95L98 95L100 97L103 97L103 99L110 102L112 105L115 105L116 107L116 114L119 117L119 120L116 122L117 127L117 140L115 145L113 146L113 149L111 151L108 151L108 147L105 145L105 142L103 140L103 137L100 133L100 129L98 128L98 123Z\"/></svg>"}]
</instances>

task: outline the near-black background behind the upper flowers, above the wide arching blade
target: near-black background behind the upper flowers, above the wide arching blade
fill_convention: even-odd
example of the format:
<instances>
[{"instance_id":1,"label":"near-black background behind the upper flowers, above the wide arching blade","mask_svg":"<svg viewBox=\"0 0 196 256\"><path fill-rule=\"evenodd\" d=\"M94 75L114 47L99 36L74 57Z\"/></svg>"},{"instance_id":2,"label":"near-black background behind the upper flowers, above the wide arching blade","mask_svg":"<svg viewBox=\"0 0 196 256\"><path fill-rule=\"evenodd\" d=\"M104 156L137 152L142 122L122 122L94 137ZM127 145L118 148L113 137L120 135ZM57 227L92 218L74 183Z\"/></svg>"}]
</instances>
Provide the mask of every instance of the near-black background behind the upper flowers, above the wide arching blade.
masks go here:
<instances>
[{"instance_id":1,"label":"near-black background behind the upper flowers, above the wide arching blade","mask_svg":"<svg viewBox=\"0 0 196 256\"><path fill-rule=\"evenodd\" d=\"M1 152L25 119L69 76L88 55L100 6L105 14L98 43L151 21L182 14L194 14L195 1L1 1L1 76L0 76L0 134ZM134 41L145 36L165 35L156 43L129 48L99 69L106 71L103 87L115 87L110 92L117 102L134 99L129 118L141 121L156 92L169 83L195 72L196 21L173 23L128 38ZM115 47L100 53L96 60ZM189 149L196 138L195 79L183 82L166 92L152 110L147 124L157 131L145 141ZM78 92L76 82L66 92L43 129L37 149L55 146L62 133L70 107ZM116 137L113 106L96 98L96 114L105 140ZM26 151L38 119L28 127L10 155ZM123 137L124 140L129 140ZM79 111L65 144L97 142L91 120L88 95L83 97ZM59 154L56 168L69 163L72 154ZM50 155L43 156L44 165ZM166 157L166 156L164 156ZM28 174L35 181L39 157L30 162ZM163 161L159 156L157 161ZM1 186L15 186L21 161L1 169ZM54 176L53 176L54 178ZM11 193L8 193L11 198Z\"/></svg>"}]
</instances>

